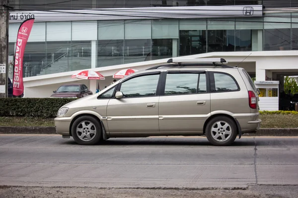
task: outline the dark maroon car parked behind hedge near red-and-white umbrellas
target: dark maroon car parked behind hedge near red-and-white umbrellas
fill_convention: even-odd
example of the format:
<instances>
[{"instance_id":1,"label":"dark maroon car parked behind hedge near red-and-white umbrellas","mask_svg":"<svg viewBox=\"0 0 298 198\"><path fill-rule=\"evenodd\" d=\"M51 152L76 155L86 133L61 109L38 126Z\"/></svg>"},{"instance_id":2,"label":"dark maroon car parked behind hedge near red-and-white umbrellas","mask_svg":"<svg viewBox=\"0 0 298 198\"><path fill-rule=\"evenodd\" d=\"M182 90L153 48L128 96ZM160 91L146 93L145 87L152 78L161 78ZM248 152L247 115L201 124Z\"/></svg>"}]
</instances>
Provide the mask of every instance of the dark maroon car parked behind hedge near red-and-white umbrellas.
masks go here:
<instances>
[{"instance_id":1,"label":"dark maroon car parked behind hedge near red-and-white umbrellas","mask_svg":"<svg viewBox=\"0 0 298 198\"><path fill-rule=\"evenodd\" d=\"M65 84L54 91L51 98L83 98L92 94L84 84Z\"/></svg>"}]
</instances>

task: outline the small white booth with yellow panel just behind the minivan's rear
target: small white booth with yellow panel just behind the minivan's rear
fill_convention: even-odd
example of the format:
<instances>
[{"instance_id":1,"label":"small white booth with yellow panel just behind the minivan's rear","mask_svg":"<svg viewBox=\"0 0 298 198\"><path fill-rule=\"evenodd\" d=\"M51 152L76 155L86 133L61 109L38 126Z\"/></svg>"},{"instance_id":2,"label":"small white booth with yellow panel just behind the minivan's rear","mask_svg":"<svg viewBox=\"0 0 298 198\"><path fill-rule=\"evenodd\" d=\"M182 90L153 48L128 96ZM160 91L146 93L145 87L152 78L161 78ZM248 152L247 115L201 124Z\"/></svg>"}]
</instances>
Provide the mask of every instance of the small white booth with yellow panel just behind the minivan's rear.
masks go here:
<instances>
[{"instance_id":1,"label":"small white booth with yellow panel just behind the minivan's rear","mask_svg":"<svg viewBox=\"0 0 298 198\"><path fill-rule=\"evenodd\" d=\"M261 111L279 110L279 81L255 81L255 87L260 90L259 108Z\"/></svg>"}]
</instances>

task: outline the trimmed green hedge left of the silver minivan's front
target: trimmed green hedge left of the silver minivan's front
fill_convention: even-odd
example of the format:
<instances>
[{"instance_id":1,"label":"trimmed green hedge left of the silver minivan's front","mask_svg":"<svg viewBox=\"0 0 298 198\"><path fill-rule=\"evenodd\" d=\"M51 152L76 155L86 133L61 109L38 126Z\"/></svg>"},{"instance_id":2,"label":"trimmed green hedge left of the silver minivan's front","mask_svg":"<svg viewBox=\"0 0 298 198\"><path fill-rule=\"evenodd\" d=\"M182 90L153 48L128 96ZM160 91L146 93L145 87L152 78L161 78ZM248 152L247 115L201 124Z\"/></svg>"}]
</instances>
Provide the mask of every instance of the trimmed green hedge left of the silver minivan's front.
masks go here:
<instances>
[{"instance_id":1,"label":"trimmed green hedge left of the silver minivan's front","mask_svg":"<svg viewBox=\"0 0 298 198\"><path fill-rule=\"evenodd\" d=\"M56 117L61 106L72 98L0 98L0 116Z\"/></svg>"}]
</instances>

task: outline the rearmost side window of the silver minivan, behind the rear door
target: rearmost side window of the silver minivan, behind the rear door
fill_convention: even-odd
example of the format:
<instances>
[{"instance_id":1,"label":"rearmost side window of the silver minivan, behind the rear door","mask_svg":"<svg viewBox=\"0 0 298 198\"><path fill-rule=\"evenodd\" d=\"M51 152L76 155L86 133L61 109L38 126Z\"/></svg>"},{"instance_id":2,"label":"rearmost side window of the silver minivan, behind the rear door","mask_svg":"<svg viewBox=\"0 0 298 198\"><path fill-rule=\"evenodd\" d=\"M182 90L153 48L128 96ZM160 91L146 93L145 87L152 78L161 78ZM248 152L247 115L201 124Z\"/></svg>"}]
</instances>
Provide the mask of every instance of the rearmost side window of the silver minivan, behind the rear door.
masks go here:
<instances>
[{"instance_id":1,"label":"rearmost side window of the silver minivan, behind the rear door","mask_svg":"<svg viewBox=\"0 0 298 198\"><path fill-rule=\"evenodd\" d=\"M210 73L211 92L231 92L239 91L236 80L227 73Z\"/></svg>"}]
</instances>

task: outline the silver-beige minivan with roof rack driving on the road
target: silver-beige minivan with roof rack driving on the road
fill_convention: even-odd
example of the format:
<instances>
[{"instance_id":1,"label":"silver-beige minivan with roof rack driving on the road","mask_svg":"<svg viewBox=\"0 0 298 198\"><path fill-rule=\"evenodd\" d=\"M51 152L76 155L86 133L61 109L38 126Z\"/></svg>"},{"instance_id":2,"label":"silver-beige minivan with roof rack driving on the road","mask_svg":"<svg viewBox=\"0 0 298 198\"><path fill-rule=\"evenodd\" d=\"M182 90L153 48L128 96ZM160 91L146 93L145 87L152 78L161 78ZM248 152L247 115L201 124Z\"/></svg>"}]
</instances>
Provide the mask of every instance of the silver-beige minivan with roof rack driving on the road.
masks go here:
<instances>
[{"instance_id":1,"label":"silver-beige minivan with roof rack driving on the road","mask_svg":"<svg viewBox=\"0 0 298 198\"><path fill-rule=\"evenodd\" d=\"M108 138L206 136L228 146L260 127L257 90L247 72L223 58L171 58L95 95L62 106L58 134L80 145Z\"/></svg>"}]
</instances>

